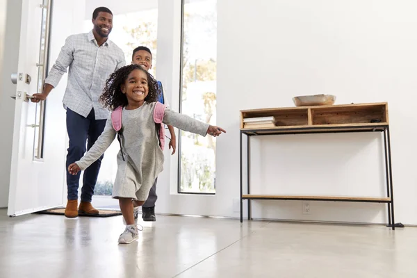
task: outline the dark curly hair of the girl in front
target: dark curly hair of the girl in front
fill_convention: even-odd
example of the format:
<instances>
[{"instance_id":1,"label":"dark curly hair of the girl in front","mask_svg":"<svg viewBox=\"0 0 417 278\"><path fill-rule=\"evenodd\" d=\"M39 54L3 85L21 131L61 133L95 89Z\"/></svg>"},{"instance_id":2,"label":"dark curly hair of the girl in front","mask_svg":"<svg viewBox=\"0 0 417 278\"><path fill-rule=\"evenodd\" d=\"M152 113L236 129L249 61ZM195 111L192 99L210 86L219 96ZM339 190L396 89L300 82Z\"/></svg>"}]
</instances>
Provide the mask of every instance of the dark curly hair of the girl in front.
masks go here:
<instances>
[{"instance_id":1,"label":"dark curly hair of the girl in front","mask_svg":"<svg viewBox=\"0 0 417 278\"><path fill-rule=\"evenodd\" d=\"M149 92L145 101L155 102L158 100L159 94L161 94L160 90L158 89L158 83L154 79L152 74L149 74L146 70L144 70L140 65L126 65L121 67L119 70L113 72L111 76L106 80L106 85L104 86L103 94L100 96L99 101L104 104L104 107L109 108L111 111L114 111L115 108L119 106L126 106L127 105L127 97L122 92L121 86L127 79L127 76L133 70L141 70L145 72L147 75L148 81L148 88Z\"/></svg>"}]
</instances>

